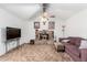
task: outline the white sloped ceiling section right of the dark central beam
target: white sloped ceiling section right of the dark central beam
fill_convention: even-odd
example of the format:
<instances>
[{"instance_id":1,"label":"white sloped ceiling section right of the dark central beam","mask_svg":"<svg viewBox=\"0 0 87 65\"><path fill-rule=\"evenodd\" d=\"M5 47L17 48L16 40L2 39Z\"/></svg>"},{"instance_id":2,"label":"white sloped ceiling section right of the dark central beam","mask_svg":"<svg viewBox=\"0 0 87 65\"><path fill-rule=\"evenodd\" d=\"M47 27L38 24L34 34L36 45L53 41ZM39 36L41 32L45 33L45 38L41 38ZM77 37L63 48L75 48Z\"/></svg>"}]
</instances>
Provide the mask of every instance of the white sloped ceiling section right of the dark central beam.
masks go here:
<instances>
[{"instance_id":1,"label":"white sloped ceiling section right of the dark central beam","mask_svg":"<svg viewBox=\"0 0 87 65\"><path fill-rule=\"evenodd\" d=\"M56 15L56 18L67 20L85 9L87 9L86 3L53 3L50 6L48 11Z\"/></svg>"}]
</instances>

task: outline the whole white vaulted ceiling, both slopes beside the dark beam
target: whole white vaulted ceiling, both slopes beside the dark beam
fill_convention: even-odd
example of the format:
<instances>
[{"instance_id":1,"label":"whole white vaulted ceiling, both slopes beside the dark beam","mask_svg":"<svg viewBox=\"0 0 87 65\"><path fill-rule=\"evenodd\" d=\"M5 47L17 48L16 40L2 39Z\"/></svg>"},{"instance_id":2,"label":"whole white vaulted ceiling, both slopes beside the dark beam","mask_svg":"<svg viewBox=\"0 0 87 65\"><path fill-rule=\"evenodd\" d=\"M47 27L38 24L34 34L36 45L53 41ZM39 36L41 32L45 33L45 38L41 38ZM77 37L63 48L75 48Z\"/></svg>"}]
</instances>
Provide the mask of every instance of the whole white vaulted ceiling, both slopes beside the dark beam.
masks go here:
<instances>
[{"instance_id":1,"label":"whole white vaulted ceiling, both slopes beside the dark beam","mask_svg":"<svg viewBox=\"0 0 87 65\"><path fill-rule=\"evenodd\" d=\"M41 4L37 3L1 3L0 8L24 20L34 18L42 11ZM85 3L50 3L47 12L56 18L66 20L84 9L87 9Z\"/></svg>"}]
</instances>

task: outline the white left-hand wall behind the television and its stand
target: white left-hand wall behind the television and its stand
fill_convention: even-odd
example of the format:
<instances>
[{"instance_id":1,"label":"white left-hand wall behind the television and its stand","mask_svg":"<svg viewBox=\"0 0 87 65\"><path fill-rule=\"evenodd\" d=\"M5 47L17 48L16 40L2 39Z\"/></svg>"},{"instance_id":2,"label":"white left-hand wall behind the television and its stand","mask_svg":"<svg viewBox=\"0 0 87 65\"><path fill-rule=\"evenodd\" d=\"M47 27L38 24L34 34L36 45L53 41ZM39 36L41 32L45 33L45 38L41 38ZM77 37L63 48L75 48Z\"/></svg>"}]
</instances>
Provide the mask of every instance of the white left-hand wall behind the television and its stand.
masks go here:
<instances>
[{"instance_id":1,"label":"white left-hand wall behind the television and its stand","mask_svg":"<svg viewBox=\"0 0 87 65\"><path fill-rule=\"evenodd\" d=\"M4 42L2 42L2 40L4 40L4 37L2 37L4 34L2 32L3 32L3 30L6 31L7 26L21 29L20 44L29 42L29 39L28 39L29 24L28 24L28 22L18 19L17 17L7 12L3 9L0 9L0 55L6 53L6 45L4 45ZM14 43L17 43L17 41L9 42L9 44L8 44L9 50L12 48L13 46L15 46L15 45L13 45Z\"/></svg>"}]
</instances>

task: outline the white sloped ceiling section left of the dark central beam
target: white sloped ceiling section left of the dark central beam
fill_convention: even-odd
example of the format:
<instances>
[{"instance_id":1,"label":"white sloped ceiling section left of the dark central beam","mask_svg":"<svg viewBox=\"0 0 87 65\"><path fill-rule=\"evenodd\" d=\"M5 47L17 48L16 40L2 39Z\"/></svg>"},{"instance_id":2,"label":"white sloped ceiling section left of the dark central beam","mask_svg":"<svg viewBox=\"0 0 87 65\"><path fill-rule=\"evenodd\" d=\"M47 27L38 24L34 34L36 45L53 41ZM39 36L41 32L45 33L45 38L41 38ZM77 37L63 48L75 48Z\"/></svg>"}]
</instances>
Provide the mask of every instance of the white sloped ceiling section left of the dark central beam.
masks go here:
<instances>
[{"instance_id":1,"label":"white sloped ceiling section left of the dark central beam","mask_svg":"<svg viewBox=\"0 0 87 65\"><path fill-rule=\"evenodd\" d=\"M6 4L4 3L4 4L0 4L0 7L23 20L29 20L31 17L33 17L33 14L37 14L39 11L41 10L40 4L35 4L35 3L33 4L32 3L30 4L25 4L25 3Z\"/></svg>"}]
</instances>

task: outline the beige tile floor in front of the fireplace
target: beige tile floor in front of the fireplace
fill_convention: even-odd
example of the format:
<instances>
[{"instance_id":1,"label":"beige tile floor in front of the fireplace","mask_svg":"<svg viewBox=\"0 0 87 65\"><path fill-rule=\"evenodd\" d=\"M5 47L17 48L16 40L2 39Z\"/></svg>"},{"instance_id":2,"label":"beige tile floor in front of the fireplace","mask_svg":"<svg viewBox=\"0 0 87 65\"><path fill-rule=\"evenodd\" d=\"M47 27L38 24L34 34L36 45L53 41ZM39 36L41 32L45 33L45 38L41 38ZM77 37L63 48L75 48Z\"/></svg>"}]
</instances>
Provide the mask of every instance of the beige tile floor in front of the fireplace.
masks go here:
<instances>
[{"instance_id":1,"label":"beige tile floor in front of the fireplace","mask_svg":"<svg viewBox=\"0 0 87 65\"><path fill-rule=\"evenodd\" d=\"M53 44L24 44L0 57L2 62L73 62L66 53L56 52Z\"/></svg>"}]
</instances>

